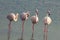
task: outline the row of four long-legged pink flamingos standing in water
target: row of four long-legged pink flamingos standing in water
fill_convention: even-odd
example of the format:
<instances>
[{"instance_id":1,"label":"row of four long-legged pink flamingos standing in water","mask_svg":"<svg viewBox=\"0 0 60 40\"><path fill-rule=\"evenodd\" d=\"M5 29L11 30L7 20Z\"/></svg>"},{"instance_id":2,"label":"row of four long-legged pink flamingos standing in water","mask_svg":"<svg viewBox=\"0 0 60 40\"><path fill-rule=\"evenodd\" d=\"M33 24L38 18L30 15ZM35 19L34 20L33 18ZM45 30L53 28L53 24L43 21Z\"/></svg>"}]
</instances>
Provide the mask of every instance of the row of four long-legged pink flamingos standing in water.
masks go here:
<instances>
[{"instance_id":1,"label":"row of four long-legged pink flamingos standing in water","mask_svg":"<svg viewBox=\"0 0 60 40\"><path fill-rule=\"evenodd\" d=\"M43 36L43 40L47 40L47 33L48 33L48 25L52 22L52 19L50 18L50 10L47 11L46 16L43 19L44 22L44 36ZM10 40L10 32L11 32L11 22L12 21L17 21L18 20L18 16L19 14L14 14L14 13L10 13L9 15L7 15L7 19L9 20L9 25L8 25L8 40ZM22 20L22 34L21 34L21 39L23 40L23 32L24 32L24 22L28 19L28 17L30 16L29 11L27 12L23 12L20 15L20 19ZM33 15L31 17L31 21L32 21L32 38L31 40L34 40L34 24L37 24L39 22L39 17L38 17L38 9L35 10L35 15Z\"/></svg>"}]
</instances>

